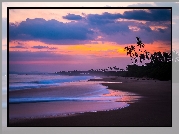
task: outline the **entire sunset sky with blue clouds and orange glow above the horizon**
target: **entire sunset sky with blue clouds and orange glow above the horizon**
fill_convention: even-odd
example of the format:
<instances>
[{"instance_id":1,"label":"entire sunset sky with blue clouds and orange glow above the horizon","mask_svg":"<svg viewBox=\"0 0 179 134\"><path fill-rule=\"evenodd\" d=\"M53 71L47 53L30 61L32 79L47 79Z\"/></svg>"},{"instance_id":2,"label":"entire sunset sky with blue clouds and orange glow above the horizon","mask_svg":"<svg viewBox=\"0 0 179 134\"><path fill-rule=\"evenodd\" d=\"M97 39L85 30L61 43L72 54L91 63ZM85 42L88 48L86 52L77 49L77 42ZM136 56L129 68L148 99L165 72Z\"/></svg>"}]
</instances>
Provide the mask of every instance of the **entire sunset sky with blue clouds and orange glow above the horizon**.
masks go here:
<instances>
[{"instance_id":1,"label":"entire sunset sky with blue clouds and orange glow above the horizon","mask_svg":"<svg viewBox=\"0 0 179 134\"><path fill-rule=\"evenodd\" d=\"M131 64L125 46L171 51L168 9L10 9L9 68L89 70Z\"/></svg>"}]
</instances>

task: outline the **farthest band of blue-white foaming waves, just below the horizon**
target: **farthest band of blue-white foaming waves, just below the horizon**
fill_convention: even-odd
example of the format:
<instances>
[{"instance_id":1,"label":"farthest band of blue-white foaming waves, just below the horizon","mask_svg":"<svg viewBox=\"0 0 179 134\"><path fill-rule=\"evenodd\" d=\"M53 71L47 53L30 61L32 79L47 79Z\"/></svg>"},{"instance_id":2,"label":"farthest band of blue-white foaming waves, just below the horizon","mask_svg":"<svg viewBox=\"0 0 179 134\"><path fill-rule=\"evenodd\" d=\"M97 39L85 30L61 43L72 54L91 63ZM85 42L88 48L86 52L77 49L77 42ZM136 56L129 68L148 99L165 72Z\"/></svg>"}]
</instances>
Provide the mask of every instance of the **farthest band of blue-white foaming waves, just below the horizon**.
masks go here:
<instances>
[{"instance_id":1,"label":"farthest band of blue-white foaming waves, just below the horizon","mask_svg":"<svg viewBox=\"0 0 179 134\"><path fill-rule=\"evenodd\" d=\"M58 86L66 82L85 81L92 76L62 76L57 74L41 75L9 75L9 90L22 90L29 88Z\"/></svg>"}]
</instances>

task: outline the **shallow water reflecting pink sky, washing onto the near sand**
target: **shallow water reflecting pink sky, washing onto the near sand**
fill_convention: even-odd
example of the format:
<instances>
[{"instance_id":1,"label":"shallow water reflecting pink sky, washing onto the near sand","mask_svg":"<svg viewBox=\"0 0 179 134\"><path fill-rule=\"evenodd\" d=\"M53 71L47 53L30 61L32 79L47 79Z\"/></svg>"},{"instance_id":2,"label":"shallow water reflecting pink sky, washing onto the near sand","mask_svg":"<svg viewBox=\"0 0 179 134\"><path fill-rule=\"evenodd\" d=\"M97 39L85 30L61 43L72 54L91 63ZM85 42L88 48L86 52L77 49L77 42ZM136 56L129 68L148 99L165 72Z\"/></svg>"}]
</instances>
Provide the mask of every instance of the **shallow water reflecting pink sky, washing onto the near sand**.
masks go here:
<instances>
[{"instance_id":1,"label":"shallow water reflecting pink sky, washing onto the near sand","mask_svg":"<svg viewBox=\"0 0 179 134\"><path fill-rule=\"evenodd\" d=\"M116 110L128 107L128 102L139 99L134 93L108 90L107 86L100 83L108 82L80 81L63 83L51 89L11 91L10 118L38 118L42 115L64 116L71 113Z\"/></svg>"}]
</instances>

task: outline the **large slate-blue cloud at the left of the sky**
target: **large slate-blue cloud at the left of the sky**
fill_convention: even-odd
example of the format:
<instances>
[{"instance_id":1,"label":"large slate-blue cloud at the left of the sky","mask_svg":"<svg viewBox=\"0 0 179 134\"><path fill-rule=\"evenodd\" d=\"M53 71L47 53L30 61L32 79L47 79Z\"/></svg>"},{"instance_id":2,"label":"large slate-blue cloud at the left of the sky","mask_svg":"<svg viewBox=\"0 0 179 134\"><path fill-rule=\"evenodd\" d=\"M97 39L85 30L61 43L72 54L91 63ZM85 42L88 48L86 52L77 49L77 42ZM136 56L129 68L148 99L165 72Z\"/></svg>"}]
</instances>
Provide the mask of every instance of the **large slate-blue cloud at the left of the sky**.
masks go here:
<instances>
[{"instance_id":1,"label":"large slate-blue cloud at the left of the sky","mask_svg":"<svg viewBox=\"0 0 179 134\"><path fill-rule=\"evenodd\" d=\"M19 25L10 24L10 40L88 40L93 32L80 22L62 23L42 18L26 19Z\"/></svg>"}]
</instances>

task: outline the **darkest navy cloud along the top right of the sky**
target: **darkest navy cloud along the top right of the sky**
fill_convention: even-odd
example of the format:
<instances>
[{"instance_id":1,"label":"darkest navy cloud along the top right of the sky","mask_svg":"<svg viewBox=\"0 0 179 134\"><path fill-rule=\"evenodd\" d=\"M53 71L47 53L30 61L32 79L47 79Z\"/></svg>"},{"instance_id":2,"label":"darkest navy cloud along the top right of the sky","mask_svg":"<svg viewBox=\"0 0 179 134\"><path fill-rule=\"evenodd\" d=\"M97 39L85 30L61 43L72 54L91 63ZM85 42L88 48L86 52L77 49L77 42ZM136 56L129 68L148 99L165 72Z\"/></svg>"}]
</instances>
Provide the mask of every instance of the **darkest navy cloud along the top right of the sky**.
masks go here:
<instances>
[{"instance_id":1,"label":"darkest navy cloud along the top right of the sky","mask_svg":"<svg viewBox=\"0 0 179 134\"><path fill-rule=\"evenodd\" d=\"M170 21L171 11L168 9L149 9L146 10L132 10L125 11L123 14L116 13L111 14L108 12L99 14L89 14L87 15L87 20L91 24L108 24L115 23L117 19L134 19L134 20L144 20L144 21Z\"/></svg>"}]
</instances>

